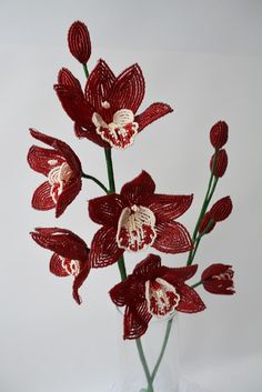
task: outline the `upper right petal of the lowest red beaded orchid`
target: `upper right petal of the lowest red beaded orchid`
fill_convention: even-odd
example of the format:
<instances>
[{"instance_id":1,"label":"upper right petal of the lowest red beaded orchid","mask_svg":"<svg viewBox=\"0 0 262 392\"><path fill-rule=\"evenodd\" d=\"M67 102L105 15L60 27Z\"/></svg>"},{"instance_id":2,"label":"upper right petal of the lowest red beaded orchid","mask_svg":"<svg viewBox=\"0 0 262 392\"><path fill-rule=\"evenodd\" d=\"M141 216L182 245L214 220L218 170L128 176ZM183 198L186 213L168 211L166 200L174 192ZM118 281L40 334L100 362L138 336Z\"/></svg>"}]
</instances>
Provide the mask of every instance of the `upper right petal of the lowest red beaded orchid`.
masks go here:
<instances>
[{"instance_id":1,"label":"upper right petal of the lowest red beaded orchid","mask_svg":"<svg viewBox=\"0 0 262 392\"><path fill-rule=\"evenodd\" d=\"M175 283L184 282L191 279L195 274L196 270L198 270L198 264L179 267L179 268L162 267L162 269L160 270L159 277L167 280L167 282L175 287Z\"/></svg>"}]
</instances>

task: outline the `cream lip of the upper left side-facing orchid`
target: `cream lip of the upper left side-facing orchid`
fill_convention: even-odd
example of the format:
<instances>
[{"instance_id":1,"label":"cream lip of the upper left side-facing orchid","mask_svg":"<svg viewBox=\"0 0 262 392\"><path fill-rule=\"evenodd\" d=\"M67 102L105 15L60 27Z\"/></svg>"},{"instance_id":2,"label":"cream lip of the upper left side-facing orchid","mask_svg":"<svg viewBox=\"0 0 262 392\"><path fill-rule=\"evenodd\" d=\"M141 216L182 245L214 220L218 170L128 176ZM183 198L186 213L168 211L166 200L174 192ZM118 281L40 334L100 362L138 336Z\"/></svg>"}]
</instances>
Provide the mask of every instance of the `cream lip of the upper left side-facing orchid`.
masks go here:
<instances>
[{"instance_id":1,"label":"cream lip of the upper left side-facing orchid","mask_svg":"<svg viewBox=\"0 0 262 392\"><path fill-rule=\"evenodd\" d=\"M56 204L59 195L62 193L71 177L72 170L67 162L63 162L61 165L50 170L48 174L48 180L51 185L50 194Z\"/></svg>"}]
</instances>

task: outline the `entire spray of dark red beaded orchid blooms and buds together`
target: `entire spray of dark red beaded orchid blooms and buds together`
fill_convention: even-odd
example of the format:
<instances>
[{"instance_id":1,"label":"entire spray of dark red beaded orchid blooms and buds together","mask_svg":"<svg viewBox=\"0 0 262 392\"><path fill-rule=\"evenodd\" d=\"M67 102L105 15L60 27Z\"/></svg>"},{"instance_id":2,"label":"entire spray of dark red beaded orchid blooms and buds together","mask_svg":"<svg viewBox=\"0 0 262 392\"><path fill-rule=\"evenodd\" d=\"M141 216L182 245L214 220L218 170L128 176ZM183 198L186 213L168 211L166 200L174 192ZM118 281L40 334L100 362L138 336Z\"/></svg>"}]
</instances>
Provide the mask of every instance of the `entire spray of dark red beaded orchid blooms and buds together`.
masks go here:
<instances>
[{"instance_id":1,"label":"entire spray of dark red beaded orchid blooms and buds together","mask_svg":"<svg viewBox=\"0 0 262 392\"><path fill-rule=\"evenodd\" d=\"M83 66L87 83L66 68L58 74L54 91L61 105L73 121L78 138L92 141L104 149L109 188L82 170L81 160L63 141L30 129L32 138L44 147L32 145L28 153L31 169L46 177L33 193L32 207L54 210L59 218L78 197L84 179L94 181L104 192L89 201L89 217L100 228L90 245L68 229L38 228L32 239L52 252L50 272L57 277L73 277L72 295L81 303L79 289L92 269L118 263L121 281L110 290L117 306L124 306L123 338L139 339L145 333L152 318L172 316L175 312L195 313L205 305L194 290L202 285L214 294L233 294L233 271L228 263L212 263L200 280L190 284L198 265L195 252L203 238L232 211L230 197L218 200L210 209L218 180L225 173L228 155L223 149L228 141L228 125L216 122L210 131L214 148L210 160L210 182L193 235L178 220L191 207L192 194L164 194L155 192L152 177L142 171L115 191L112 155L113 149L124 150L137 142L139 133L153 121L171 113L169 104L152 103L139 112L145 92L141 68L133 64L118 77L104 60L88 71L91 41L84 23L74 22L68 33L69 50ZM124 254L144 251L149 255L127 274ZM188 253L185 267L165 267L162 253ZM174 257L175 264L175 257Z\"/></svg>"}]
</instances>

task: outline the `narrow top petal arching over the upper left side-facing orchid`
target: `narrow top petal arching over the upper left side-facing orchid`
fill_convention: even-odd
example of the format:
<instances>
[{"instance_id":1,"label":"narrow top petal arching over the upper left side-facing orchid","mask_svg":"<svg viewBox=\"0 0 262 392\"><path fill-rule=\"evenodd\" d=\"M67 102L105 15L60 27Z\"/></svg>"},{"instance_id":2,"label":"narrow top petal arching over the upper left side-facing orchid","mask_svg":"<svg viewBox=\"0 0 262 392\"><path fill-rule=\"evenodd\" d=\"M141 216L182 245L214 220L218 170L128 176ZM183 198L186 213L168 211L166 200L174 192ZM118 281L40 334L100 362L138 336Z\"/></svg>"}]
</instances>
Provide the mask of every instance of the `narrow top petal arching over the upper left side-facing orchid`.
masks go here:
<instances>
[{"instance_id":1,"label":"narrow top petal arching over the upper left side-facing orchid","mask_svg":"<svg viewBox=\"0 0 262 392\"><path fill-rule=\"evenodd\" d=\"M71 147L69 147L62 140L49 137L48 134L41 133L34 129L30 129L30 133L34 139L38 139L41 142L56 149L62 157L64 157L66 161L74 172L74 175L80 175L82 172L81 162Z\"/></svg>"}]
</instances>

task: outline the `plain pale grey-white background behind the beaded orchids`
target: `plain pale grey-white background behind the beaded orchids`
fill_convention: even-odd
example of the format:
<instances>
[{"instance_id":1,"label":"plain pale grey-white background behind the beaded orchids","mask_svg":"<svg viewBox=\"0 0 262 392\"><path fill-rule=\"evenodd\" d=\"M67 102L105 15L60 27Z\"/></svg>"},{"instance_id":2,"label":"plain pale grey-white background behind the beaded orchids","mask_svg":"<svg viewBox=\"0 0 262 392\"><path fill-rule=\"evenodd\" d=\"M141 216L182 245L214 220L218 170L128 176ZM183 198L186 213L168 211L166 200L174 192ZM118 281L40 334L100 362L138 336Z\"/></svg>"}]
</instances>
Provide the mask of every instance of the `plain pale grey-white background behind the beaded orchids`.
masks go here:
<instances>
[{"instance_id":1,"label":"plain pale grey-white background behind the beaded orchids","mask_svg":"<svg viewBox=\"0 0 262 392\"><path fill-rule=\"evenodd\" d=\"M28 234L58 225L90 244L98 229L87 210L100 194L92 183L59 221L53 211L30 208L42 178L27 165L29 127L70 143L85 172L105 181L102 149L77 140L52 90L62 66L84 81L66 43L78 19L91 33L90 69L100 57L117 74L139 62L148 87L141 110L161 100L175 108L133 148L115 152L119 187L145 169L159 192L193 192L181 220L192 232L209 177L209 129L220 119L230 125L230 164L215 199L230 194L234 211L203 241L196 261L200 270L232 263L236 294L200 289L208 309L181 316L181 361L184 375L211 392L260 392L262 2L254 0L0 1L0 392L107 392L118 378L120 331L107 294L119 280L117 267L90 274L78 306L70 278L49 273L50 252ZM141 259L129 255L129 270ZM163 260L184 263L181 255Z\"/></svg>"}]
</instances>

